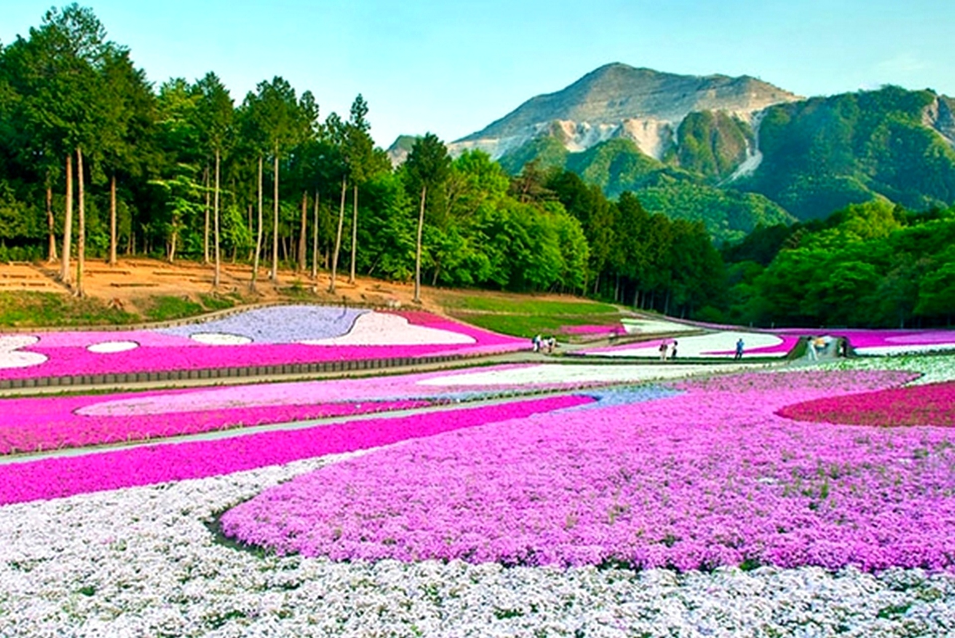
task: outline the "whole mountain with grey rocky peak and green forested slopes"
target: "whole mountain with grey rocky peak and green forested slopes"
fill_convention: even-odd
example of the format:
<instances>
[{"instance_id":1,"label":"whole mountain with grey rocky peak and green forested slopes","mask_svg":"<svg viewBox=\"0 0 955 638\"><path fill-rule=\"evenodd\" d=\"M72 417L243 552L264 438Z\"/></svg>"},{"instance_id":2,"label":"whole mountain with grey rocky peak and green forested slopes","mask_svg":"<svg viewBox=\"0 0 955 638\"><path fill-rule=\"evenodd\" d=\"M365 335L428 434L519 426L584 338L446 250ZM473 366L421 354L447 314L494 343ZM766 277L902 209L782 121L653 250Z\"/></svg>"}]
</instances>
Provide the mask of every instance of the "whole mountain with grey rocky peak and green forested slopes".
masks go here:
<instances>
[{"instance_id":1,"label":"whole mountain with grey rocky peak and green forested slopes","mask_svg":"<svg viewBox=\"0 0 955 638\"><path fill-rule=\"evenodd\" d=\"M870 200L955 203L955 99L895 86L805 99L746 75L609 64L448 147L631 191L720 241Z\"/></svg>"}]
</instances>

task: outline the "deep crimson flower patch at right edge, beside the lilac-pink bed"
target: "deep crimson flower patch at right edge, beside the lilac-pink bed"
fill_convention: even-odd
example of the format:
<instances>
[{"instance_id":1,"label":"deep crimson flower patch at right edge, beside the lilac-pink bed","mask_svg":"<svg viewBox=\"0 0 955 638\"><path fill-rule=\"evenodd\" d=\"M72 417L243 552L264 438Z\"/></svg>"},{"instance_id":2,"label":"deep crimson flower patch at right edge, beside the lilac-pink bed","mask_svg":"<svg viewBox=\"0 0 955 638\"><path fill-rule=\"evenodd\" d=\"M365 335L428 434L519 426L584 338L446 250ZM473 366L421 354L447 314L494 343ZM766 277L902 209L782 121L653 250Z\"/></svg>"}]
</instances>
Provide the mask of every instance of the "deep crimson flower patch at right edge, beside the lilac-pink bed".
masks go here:
<instances>
[{"instance_id":1,"label":"deep crimson flower patch at right edge, beside the lilac-pink bed","mask_svg":"<svg viewBox=\"0 0 955 638\"><path fill-rule=\"evenodd\" d=\"M955 381L892 388L849 397L787 405L777 413L787 419L896 427L955 426Z\"/></svg>"}]
</instances>

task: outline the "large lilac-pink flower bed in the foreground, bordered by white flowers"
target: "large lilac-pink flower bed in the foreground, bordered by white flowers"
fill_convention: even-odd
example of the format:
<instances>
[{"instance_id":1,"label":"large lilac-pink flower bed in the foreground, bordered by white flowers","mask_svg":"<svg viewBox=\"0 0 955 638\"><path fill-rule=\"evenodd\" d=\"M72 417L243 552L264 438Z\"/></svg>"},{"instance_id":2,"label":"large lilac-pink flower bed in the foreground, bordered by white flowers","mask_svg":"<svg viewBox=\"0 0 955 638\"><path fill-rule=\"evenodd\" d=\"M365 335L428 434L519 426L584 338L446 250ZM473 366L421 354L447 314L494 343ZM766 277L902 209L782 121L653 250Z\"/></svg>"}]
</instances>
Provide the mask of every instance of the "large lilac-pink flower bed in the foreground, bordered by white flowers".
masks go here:
<instances>
[{"instance_id":1,"label":"large lilac-pink flower bed in the foreground, bordered by white flowers","mask_svg":"<svg viewBox=\"0 0 955 638\"><path fill-rule=\"evenodd\" d=\"M223 529L334 560L953 571L950 430L774 414L912 378L746 374L449 432L265 490L226 512Z\"/></svg>"}]
</instances>

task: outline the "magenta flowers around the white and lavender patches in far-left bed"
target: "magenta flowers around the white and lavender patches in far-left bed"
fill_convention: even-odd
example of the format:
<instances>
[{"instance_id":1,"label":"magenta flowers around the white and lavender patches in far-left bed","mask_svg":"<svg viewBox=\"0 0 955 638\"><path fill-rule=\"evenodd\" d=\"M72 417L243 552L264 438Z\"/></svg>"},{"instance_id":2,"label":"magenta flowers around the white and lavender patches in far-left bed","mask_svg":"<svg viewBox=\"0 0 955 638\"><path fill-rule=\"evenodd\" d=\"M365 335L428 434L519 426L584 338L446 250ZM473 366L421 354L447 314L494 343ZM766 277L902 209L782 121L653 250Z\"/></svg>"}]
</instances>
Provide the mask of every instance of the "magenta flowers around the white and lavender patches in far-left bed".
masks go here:
<instances>
[{"instance_id":1,"label":"magenta flowers around the white and lavender patches in far-left bed","mask_svg":"<svg viewBox=\"0 0 955 638\"><path fill-rule=\"evenodd\" d=\"M0 368L0 379L28 379L71 375L107 375L163 370L198 370L256 365L281 365L294 363L317 363L341 360L375 360L420 358L440 355L473 356L498 352L511 352L527 348L525 340L497 335L472 326L465 326L449 319L437 318L427 313L400 313L412 323L458 332L474 338L473 344L448 345L381 345L323 346L299 343L249 343L243 345L205 345L175 336L152 334L149 331L101 333L97 339L91 333L77 337L71 333L44 334L40 343L22 348L37 352L48 360L29 367ZM427 323L419 323L427 321ZM147 332L149 337L139 335ZM124 352L96 353L84 346L45 346L46 340L56 343L96 343L107 340L133 340L142 338L140 347ZM170 345L173 341L180 345ZM146 343L157 345L145 345ZM160 345L161 343L161 345Z\"/></svg>"}]
</instances>

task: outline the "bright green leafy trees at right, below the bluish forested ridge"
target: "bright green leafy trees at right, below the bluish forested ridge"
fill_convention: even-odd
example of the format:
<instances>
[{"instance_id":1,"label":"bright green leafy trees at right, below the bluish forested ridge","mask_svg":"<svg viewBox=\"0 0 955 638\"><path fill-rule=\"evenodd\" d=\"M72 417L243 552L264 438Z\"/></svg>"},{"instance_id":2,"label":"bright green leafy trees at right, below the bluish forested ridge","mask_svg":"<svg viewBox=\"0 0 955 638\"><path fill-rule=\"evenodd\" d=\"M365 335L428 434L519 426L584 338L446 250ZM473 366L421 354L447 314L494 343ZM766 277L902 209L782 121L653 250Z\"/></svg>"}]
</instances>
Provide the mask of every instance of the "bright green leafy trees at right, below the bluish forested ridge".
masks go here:
<instances>
[{"instance_id":1,"label":"bright green leafy trees at right, below the bluish forested ridge","mask_svg":"<svg viewBox=\"0 0 955 638\"><path fill-rule=\"evenodd\" d=\"M852 204L825 220L759 228L724 257L732 321L905 327L955 318L955 208Z\"/></svg>"}]
</instances>

